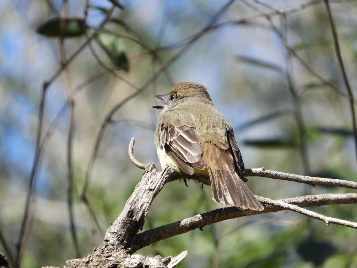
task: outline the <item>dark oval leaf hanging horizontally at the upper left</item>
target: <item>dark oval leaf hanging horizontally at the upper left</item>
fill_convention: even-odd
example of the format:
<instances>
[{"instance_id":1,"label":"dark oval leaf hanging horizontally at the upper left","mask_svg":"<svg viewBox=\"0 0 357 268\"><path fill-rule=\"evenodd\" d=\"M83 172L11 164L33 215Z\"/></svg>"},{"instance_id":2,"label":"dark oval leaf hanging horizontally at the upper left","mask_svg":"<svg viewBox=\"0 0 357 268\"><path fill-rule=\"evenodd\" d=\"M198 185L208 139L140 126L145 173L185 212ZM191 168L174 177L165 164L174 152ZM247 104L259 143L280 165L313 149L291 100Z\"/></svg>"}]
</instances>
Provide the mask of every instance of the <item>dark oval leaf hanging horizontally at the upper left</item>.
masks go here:
<instances>
[{"instance_id":1,"label":"dark oval leaf hanging horizontally at the upper left","mask_svg":"<svg viewBox=\"0 0 357 268\"><path fill-rule=\"evenodd\" d=\"M48 37L77 37L84 35L88 27L84 20L75 18L56 17L46 20L36 30L37 33Z\"/></svg>"}]
</instances>

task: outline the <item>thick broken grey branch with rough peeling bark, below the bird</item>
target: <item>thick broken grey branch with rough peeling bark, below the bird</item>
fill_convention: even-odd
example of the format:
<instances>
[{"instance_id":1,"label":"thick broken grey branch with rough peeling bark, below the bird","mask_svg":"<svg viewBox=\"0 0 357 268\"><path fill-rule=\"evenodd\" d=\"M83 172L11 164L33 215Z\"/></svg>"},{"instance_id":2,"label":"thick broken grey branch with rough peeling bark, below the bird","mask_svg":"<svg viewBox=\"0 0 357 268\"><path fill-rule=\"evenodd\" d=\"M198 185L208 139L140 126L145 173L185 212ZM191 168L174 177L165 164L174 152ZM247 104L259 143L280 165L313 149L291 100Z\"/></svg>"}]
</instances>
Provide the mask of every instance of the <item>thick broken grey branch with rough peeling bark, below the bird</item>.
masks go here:
<instances>
[{"instance_id":1,"label":"thick broken grey branch with rough peeling bark, below the bird","mask_svg":"<svg viewBox=\"0 0 357 268\"><path fill-rule=\"evenodd\" d=\"M144 176L136 185L120 216L109 226L100 246L84 258L68 260L66 268L116 267L119 263L128 264L124 267L130 267L131 263L139 265L133 267L173 267L172 263L180 262L185 257L185 254L180 255L181 259L131 255L134 239L144 225L152 201L174 172L169 168L159 172L153 163L146 166Z\"/></svg>"}]
</instances>

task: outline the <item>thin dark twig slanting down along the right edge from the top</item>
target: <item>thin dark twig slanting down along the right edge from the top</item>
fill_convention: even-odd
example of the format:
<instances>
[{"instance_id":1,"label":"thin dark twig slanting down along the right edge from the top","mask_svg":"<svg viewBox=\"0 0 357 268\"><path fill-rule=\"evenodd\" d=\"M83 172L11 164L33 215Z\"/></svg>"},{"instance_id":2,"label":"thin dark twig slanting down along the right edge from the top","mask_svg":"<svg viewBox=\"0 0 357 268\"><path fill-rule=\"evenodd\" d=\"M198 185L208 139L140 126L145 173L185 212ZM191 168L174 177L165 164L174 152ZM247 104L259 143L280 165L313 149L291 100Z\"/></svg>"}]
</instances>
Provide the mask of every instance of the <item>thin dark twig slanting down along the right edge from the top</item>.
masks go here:
<instances>
[{"instance_id":1,"label":"thin dark twig slanting down along the right edge from the top","mask_svg":"<svg viewBox=\"0 0 357 268\"><path fill-rule=\"evenodd\" d=\"M352 126L353 126L353 137L355 138L355 150L356 150L356 160L357 160L357 125L356 125L356 111L355 111L355 99L353 98L353 92L350 86L350 82L348 81L345 64L343 63L341 50L340 50L340 43L338 42L338 36L335 28L335 23L333 22L332 13L330 9L330 4L328 4L328 0L324 0L326 4L326 10L328 14L328 19L331 23L331 31L333 36L333 43L335 44L335 51L337 56L338 65L340 66L341 73L343 76L343 81L345 82L347 94L348 94L348 101L350 102L350 109L352 115Z\"/></svg>"}]
</instances>

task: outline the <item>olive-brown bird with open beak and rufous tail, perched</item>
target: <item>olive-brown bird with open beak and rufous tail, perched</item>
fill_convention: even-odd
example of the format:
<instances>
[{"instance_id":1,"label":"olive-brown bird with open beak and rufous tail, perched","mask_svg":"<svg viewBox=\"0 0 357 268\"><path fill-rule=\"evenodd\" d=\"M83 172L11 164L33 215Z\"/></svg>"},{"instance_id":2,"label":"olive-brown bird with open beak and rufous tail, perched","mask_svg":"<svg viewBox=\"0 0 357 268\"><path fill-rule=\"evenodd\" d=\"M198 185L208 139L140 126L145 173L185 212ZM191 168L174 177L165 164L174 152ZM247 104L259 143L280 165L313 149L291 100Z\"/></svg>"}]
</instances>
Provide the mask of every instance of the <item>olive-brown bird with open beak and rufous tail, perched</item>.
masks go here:
<instances>
[{"instance_id":1,"label":"olive-brown bird with open beak and rufous tail, perched","mask_svg":"<svg viewBox=\"0 0 357 268\"><path fill-rule=\"evenodd\" d=\"M243 182L245 169L232 125L218 112L206 87L183 82L155 98L164 101L152 106L161 110L155 146L162 168L190 175L208 171L215 202L263 210Z\"/></svg>"}]
</instances>

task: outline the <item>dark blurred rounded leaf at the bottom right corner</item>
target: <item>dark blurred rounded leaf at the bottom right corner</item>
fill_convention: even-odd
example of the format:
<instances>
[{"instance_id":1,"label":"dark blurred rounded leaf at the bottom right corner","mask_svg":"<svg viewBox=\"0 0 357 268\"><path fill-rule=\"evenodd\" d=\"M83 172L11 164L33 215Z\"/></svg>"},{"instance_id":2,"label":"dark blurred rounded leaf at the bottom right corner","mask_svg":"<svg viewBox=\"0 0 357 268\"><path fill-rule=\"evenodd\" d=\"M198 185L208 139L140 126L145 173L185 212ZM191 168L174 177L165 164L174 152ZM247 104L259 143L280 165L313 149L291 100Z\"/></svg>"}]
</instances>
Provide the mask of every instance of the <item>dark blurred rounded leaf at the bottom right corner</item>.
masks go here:
<instances>
[{"instance_id":1,"label":"dark blurred rounded leaf at the bottom right corner","mask_svg":"<svg viewBox=\"0 0 357 268\"><path fill-rule=\"evenodd\" d=\"M297 246L297 253L306 261L322 265L325 260L337 250L328 242L305 240Z\"/></svg>"}]
</instances>

